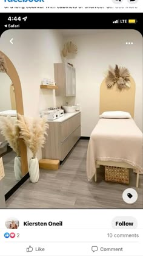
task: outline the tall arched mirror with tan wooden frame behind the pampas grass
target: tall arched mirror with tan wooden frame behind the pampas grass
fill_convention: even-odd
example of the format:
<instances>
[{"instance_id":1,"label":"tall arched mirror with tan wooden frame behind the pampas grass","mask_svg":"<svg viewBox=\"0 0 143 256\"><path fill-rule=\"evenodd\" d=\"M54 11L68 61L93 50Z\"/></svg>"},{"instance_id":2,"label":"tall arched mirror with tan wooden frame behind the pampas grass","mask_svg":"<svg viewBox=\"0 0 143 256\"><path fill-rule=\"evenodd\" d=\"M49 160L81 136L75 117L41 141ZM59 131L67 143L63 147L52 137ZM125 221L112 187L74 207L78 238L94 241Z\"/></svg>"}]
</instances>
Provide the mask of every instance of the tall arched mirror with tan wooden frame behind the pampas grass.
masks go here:
<instances>
[{"instance_id":1,"label":"tall arched mirror with tan wooden frame behind the pampas grass","mask_svg":"<svg viewBox=\"0 0 143 256\"><path fill-rule=\"evenodd\" d=\"M0 51L0 118L4 122L10 118L15 123L17 113L24 115L21 82L13 63ZM16 177L14 162L16 152L10 146L10 141L1 134L0 127L0 157L4 164L5 177L3 178L4 194L8 194L16 185L21 182L22 177L28 172L27 148L22 140L19 140L19 155L21 157L21 177ZM18 187L18 186L17 186ZM16 190L16 189L15 189ZM13 191L15 191L13 190Z\"/></svg>"}]
</instances>

